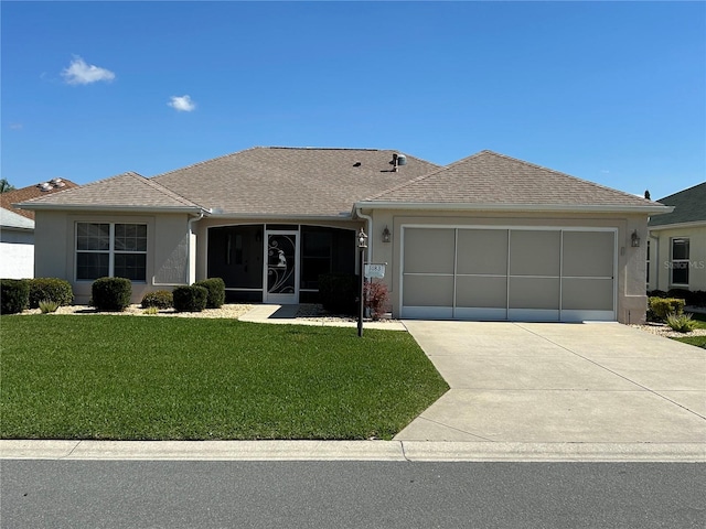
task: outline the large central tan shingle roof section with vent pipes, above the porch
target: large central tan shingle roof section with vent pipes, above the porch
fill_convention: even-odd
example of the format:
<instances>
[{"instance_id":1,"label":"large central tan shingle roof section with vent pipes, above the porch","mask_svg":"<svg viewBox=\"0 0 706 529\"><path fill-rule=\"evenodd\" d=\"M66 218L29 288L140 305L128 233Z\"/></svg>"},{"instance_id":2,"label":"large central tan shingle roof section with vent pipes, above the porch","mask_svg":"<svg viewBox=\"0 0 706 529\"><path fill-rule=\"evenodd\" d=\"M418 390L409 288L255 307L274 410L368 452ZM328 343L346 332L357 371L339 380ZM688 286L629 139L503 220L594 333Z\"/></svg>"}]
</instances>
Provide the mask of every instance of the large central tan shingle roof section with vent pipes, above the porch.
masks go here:
<instances>
[{"instance_id":1,"label":"large central tan shingle roof section with vent pipes, above the porch","mask_svg":"<svg viewBox=\"0 0 706 529\"><path fill-rule=\"evenodd\" d=\"M438 165L376 149L256 147L154 176L192 201L233 215L341 216L355 201L381 193Z\"/></svg>"}]
</instances>

